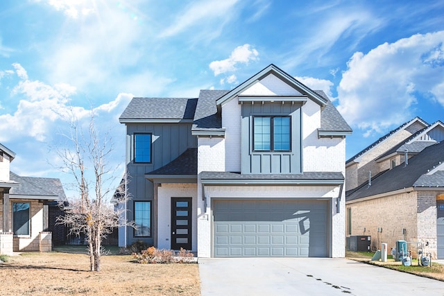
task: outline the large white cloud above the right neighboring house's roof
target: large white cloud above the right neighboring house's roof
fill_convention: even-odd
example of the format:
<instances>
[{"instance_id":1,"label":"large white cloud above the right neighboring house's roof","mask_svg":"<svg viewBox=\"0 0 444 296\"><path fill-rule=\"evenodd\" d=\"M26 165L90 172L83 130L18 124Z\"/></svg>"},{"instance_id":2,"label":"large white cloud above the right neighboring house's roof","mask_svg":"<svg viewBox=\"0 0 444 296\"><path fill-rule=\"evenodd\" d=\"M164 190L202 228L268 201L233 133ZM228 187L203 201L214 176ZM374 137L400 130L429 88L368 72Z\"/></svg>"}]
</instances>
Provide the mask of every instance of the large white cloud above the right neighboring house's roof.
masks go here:
<instances>
[{"instance_id":1,"label":"large white cloud above the right neighboring house's roof","mask_svg":"<svg viewBox=\"0 0 444 296\"><path fill-rule=\"evenodd\" d=\"M411 119L423 97L444 106L443 40L444 31L418 34L355 53L337 89L348 123L370 134Z\"/></svg>"}]
</instances>

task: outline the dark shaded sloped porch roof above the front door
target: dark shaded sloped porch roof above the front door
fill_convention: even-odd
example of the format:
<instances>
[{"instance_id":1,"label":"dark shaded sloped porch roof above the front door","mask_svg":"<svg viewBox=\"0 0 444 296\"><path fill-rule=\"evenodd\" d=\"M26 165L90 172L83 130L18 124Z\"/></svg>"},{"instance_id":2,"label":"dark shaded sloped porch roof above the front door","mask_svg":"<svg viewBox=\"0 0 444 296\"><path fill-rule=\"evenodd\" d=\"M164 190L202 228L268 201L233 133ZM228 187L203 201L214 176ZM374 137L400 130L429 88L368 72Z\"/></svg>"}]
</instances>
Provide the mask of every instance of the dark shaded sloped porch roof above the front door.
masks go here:
<instances>
[{"instance_id":1,"label":"dark shaded sloped porch roof above the front door","mask_svg":"<svg viewBox=\"0 0 444 296\"><path fill-rule=\"evenodd\" d=\"M197 148L188 148L172 162L145 175L196 175Z\"/></svg>"}]
</instances>

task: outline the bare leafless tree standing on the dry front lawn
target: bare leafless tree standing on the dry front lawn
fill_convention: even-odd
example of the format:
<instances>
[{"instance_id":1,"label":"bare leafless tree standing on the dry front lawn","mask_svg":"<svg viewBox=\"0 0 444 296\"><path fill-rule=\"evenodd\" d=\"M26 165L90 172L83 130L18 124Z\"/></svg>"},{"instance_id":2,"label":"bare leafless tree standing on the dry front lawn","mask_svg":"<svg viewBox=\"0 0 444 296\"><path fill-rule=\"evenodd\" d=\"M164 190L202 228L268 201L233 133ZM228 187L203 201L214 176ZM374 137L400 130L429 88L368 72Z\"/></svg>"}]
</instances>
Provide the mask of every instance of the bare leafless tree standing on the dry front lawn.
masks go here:
<instances>
[{"instance_id":1,"label":"bare leafless tree standing on the dry front lawn","mask_svg":"<svg viewBox=\"0 0 444 296\"><path fill-rule=\"evenodd\" d=\"M67 225L69 234L85 235L90 270L99 272L103 239L119 226L133 226L120 218L125 207L119 205L125 204L128 198L123 193L127 178L123 177L117 190L109 186L117 180L117 168L111 168L108 162L113 146L109 134L100 135L96 129L93 112L85 128L78 123L72 110L67 121L69 132L63 134L67 143L57 148L56 153L62 160L62 169L74 177L79 195L69 202L65 215L58 217L58 223Z\"/></svg>"}]
</instances>

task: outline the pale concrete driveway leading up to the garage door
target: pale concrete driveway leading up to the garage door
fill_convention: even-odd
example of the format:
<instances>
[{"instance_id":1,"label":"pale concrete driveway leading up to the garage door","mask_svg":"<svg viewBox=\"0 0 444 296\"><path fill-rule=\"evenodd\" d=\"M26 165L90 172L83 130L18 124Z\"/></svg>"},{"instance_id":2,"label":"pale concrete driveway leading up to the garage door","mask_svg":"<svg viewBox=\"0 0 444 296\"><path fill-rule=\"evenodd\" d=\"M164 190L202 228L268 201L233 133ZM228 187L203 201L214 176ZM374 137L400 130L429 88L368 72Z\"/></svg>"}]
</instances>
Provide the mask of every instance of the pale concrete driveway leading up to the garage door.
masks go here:
<instances>
[{"instance_id":1,"label":"pale concrete driveway leading up to the garage door","mask_svg":"<svg viewBox=\"0 0 444 296\"><path fill-rule=\"evenodd\" d=\"M444 282L348 259L199 258L202 296L444 295Z\"/></svg>"}]
</instances>

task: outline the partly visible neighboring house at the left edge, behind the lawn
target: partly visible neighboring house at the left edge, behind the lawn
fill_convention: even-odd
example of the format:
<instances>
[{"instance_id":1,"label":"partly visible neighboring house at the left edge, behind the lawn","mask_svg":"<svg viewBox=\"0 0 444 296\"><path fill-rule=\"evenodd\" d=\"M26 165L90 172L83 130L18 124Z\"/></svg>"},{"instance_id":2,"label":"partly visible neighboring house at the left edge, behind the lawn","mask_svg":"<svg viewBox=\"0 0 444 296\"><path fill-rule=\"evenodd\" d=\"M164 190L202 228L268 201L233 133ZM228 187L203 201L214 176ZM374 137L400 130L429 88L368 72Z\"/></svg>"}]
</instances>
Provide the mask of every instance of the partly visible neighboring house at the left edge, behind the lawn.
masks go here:
<instances>
[{"instance_id":1,"label":"partly visible neighboring house at the left edge, behind the lawn","mask_svg":"<svg viewBox=\"0 0 444 296\"><path fill-rule=\"evenodd\" d=\"M0 254L50 252L48 203L65 200L59 179L22 177L10 172L15 153L0 144Z\"/></svg>"}]
</instances>

